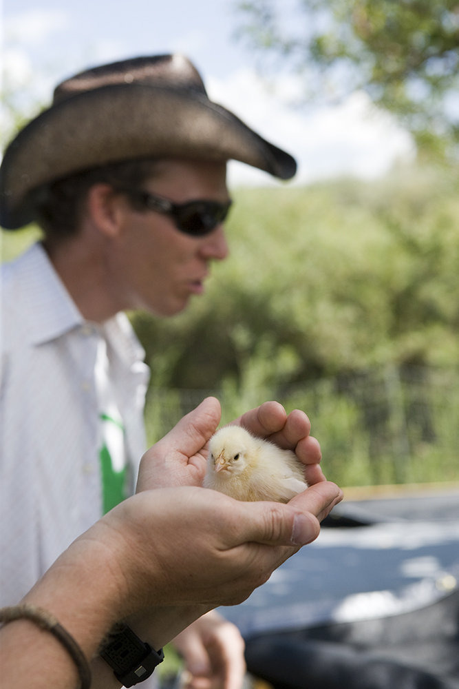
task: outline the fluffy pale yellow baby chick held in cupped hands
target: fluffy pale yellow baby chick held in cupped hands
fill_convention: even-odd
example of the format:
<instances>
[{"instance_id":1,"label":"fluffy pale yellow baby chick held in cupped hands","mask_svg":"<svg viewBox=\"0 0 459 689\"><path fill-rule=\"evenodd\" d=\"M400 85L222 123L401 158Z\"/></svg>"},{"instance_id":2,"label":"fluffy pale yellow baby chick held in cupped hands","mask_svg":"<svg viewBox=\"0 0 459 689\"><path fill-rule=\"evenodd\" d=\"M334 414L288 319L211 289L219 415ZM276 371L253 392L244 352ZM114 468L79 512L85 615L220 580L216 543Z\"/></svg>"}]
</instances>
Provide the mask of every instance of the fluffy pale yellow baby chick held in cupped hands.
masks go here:
<instances>
[{"instance_id":1,"label":"fluffy pale yellow baby chick held in cupped hands","mask_svg":"<svg viewBox=\"0 0 459 689\"><path fill-rule=\"evenodd\" d=\"M236 500L288 502L307 487L295 453L241 426L224 426L209 441L204 488Z\"/></svg>"}]
</instances>

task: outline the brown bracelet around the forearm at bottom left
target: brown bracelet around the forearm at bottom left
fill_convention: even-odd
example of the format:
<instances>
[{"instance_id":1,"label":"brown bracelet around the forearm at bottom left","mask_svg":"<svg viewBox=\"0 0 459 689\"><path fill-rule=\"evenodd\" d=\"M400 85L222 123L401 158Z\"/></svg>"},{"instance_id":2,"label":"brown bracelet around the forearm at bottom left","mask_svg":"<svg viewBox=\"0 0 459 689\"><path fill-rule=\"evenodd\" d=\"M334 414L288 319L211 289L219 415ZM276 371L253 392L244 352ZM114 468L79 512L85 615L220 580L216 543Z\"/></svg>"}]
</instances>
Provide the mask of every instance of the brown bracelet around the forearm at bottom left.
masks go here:
<instances>
[{"instance_id":1,"label":"brown bracelet around the forearm at bottom left","mask_svg":"<svg viewBox=\"0 0 459 689\"><path fill-rule=\"evenodd\" d=\"M56 637L65 650L67 650L67 653L76 665L78 677L80 677L80 688L90 689L91 670L89 670L89 664L85 655L75 639L58 623L56 617L51 615L51 613L47 613L46 610L36 608L30 604L0 609L0 622L3 622L3 624L8 624L8 622L12 622L16 619L28 619L41 629L50 632Z\"/></svg>"}]
</instances>

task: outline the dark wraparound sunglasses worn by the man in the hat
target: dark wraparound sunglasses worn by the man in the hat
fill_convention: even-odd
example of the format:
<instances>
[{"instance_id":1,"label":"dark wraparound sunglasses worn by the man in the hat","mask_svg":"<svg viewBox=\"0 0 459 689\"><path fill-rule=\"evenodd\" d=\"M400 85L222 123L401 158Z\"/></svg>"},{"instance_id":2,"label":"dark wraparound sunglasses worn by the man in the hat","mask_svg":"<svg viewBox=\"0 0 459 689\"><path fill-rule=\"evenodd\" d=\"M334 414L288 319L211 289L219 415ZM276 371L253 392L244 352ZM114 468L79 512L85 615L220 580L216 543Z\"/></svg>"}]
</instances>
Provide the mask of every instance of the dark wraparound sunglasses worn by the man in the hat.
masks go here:
<instances>
[{"instance_id":1,"label":"dark wraparound sunglasses worn by the man in the hat","mask_svg":"<svg viewBox=\"0 0 459 689\"><path fill-rule=\"evenodd\" d=\"M140 209L147 208L156 213L171 216L175 227L180 229L180 232L193 237L203 237L210 234L217 225L223 223L232 203L231 200L227 203L210 200L173 203L168 198L144 192L142 189L114 188L117 192L126 194L131 202Z\"/></svg>"}]
</instances>

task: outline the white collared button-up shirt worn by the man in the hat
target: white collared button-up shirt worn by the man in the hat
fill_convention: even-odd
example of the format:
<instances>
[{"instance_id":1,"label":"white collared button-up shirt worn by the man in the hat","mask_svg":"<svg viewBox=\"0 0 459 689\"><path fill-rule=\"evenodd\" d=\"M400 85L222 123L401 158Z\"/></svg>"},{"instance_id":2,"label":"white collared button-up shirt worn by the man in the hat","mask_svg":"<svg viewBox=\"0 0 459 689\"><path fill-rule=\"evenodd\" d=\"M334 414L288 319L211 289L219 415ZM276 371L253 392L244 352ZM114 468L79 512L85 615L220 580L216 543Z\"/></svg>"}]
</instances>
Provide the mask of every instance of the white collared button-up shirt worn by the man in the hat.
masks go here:
<instances>
[{"instance_id":1,"label":"white collared button-up shirt worn by the man in the hat","mask_svg":"<svg viewBox=\"0 0 459 689\"><path fill-rule=\"evenodd\" d=\"M84 275L81 278L84 280ZM95 364L107 346L131 489L149 369L124 314L86 322L37 244L1 269L0 605L16 604L101 514Z\"/></svg>"}]
</instances>

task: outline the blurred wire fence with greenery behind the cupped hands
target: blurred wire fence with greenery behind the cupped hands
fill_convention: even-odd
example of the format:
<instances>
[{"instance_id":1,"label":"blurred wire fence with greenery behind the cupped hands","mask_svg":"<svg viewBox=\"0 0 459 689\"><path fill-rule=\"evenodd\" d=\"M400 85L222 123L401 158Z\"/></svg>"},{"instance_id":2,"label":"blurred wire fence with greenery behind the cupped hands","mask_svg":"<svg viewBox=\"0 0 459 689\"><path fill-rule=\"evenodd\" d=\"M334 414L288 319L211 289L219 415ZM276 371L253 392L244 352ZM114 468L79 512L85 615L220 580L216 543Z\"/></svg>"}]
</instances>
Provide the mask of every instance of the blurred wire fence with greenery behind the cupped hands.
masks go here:
<instances>
[{"instance_id":1,"label":"blurred wire fence with greenery behind the cupped hands","mask_svg":"<svg viewBox=\"0 0 459 689\"><path fill-rule=\"evenodd\" d=\"M155 442L207 395L226 423L276 399L303 409L321 443L323 469L342 486L459 480L459 368L361 371L286 389L151 389L147 433Z\"/></svg>"}]
</instances>

